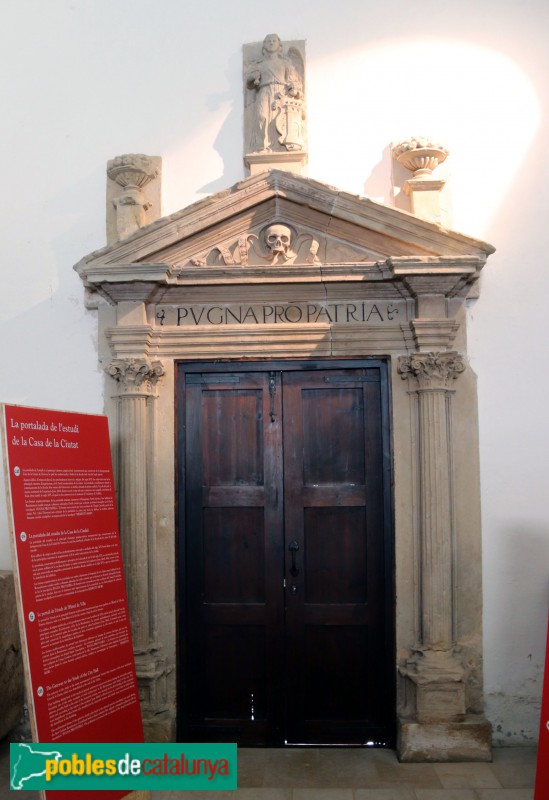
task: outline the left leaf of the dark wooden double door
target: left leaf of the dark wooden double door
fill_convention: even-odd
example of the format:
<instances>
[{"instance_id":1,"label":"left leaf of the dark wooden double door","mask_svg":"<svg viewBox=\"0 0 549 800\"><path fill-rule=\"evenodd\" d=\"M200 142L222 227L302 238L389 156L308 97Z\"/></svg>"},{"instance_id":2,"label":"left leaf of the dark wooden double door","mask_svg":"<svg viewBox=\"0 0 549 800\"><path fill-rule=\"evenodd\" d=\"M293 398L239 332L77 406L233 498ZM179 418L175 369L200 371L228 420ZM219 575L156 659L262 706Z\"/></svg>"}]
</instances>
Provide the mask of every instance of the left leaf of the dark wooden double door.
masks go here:
<instances>
[{"instance_id":1,"label":"left leaf of the dark wooden double door","mask_svg":"<svg viewBox=\"0 0 549 800\"><path fill-rule=\"evenodd\" d=\"M269 744L283 705L281 397L268 373L230 378L186 386L187 733Z\"/></svg>"}]
</instances>

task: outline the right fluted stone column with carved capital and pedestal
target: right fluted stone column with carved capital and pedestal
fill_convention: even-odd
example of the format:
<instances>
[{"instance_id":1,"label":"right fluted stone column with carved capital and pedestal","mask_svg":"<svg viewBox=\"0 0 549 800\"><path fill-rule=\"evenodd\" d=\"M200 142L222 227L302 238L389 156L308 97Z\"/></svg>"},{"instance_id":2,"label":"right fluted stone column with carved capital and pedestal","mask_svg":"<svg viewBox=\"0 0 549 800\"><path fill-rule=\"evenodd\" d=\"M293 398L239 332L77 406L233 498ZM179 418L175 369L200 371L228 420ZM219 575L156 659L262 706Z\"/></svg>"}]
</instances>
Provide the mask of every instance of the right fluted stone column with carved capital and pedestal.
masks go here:
<instances>
[{"instance_id":1,"label":"right fluted stone column with carved capital and pedestal","mask_svg":"<svg viewBox=\"0 0 549 800\"><path fill-rule=\"evenodd\" d=\"M465 715L464 671L454 653L451 383L465 370L456 352L416 353L398 370L417 395L420 641L401 673L418 722Z\"/></svg>"}]
</instances>

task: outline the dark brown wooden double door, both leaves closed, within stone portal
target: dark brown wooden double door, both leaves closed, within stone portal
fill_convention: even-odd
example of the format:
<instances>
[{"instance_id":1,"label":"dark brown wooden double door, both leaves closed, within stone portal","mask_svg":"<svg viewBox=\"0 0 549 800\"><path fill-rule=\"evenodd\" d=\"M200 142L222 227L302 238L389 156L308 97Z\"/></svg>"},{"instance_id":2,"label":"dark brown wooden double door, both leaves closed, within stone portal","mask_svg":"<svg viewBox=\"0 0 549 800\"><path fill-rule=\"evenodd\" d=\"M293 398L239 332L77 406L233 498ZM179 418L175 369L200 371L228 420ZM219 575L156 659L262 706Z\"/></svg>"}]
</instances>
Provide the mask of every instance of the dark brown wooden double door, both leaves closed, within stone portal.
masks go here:
<instances>
[{"instance_id":1,"label":"dark brown wooden double door, both leaves closed, within stone portal","mask_svg":"<svg viewBox=\"0 0 549 800\"><path fill-rule=\"evenodd\" d=\"M180 365L179 737L390 745L386 365Z\"/></svg>"}]
</instances>

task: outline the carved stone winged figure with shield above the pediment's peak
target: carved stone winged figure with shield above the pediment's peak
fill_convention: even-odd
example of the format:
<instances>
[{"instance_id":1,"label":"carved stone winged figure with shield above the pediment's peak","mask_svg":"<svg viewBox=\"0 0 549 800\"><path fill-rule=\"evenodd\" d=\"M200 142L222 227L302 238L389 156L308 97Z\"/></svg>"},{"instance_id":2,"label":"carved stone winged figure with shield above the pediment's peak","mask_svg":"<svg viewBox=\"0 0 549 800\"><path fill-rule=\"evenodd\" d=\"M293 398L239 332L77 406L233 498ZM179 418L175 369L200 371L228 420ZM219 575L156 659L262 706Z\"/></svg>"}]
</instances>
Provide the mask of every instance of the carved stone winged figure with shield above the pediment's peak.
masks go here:
<instances>
[{"instance_id":1,"label":"carved stone winged figure with shield above the pediment's peak","mask_svg":"<svg viewBox=\"0 0 549 800\"><path fill-rule=\"evenodd\" d=\"M284 55L276 33L263 40L261 58L245 64L248 152L294 151L305 147L304 65L299 50Z\"/></svg>"}]
</instances>

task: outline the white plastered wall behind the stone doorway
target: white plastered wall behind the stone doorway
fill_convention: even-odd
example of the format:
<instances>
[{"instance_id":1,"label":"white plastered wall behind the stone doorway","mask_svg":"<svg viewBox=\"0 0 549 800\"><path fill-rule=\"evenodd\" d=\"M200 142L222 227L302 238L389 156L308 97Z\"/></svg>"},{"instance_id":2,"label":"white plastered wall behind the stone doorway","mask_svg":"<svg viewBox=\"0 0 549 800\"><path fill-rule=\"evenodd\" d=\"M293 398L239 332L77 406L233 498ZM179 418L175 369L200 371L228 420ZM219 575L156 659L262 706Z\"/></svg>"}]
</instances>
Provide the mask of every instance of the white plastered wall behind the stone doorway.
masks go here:
<instances>
[{"instance_id":1,"label":"white plastered wall behind the stone doorway","mask_svg":"<svg viewBox=\"0 0 549 800\"><path fill-rule=\"evenodd\" d=\"M0 29L5 402L102 412L96 318L72 265L105 244L106 162L162 156L164 213L244 177L244 42L307 41L311 177L401 205L391 142L450 150L446 218L497 248L468 315L485 688L503 743L537 736L549 606L548 23L544 0L4 0Z\"/></svg>"}]
</instances>

